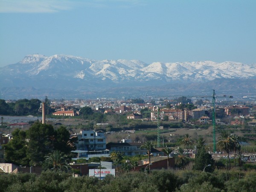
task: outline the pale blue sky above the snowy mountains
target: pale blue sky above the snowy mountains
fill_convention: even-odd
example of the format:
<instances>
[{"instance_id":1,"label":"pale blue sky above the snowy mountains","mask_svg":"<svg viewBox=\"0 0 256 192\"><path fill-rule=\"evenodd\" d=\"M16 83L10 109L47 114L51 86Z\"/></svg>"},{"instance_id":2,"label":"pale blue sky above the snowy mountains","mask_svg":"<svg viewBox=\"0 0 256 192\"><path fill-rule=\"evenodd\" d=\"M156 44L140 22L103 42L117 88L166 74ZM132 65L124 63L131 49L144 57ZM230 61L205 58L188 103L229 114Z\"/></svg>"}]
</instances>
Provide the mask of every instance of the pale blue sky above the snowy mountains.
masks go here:
<instances>
[{"instance_id":1,"label":"pale blue sky above the snowy mountains","mask_svg":"<svg viewBox=\"0 0 256 192\"><path fill-rule=\"evenodd\" d=\"M0 67L25 55L256 64L256 0L0 0Z\"/></svg>"}]
</instances>

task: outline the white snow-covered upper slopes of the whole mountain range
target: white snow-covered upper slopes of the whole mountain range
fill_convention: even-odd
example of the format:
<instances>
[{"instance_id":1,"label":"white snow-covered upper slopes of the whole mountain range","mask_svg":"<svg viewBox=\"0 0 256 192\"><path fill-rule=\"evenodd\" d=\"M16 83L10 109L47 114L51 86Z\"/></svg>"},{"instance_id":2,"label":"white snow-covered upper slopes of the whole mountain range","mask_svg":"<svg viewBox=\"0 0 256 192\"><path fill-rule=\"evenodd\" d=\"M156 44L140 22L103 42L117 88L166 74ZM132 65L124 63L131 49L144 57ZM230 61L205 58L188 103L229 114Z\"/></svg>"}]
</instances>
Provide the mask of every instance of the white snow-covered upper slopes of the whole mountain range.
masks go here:
<instances>
[{"instance_id":1,"label":"white snow-covered upper slopes of the whole mountain range","mask_svg":"<svg viewBox=\"0 0 256 192\"><path fill-rule=\"evenodd\" d=\"M81 79L84 81L113 82L170 82L204 81L215 78L250 78L256 76L255 65L232 61L154 62L138 60L96 61L72 55L26 55L17 64L0 68L5 79L51 77L55 79ZM0 77L1 78L1 77ZM92 80L93 79L93 80Z\"/></svg>"}]
</instances>

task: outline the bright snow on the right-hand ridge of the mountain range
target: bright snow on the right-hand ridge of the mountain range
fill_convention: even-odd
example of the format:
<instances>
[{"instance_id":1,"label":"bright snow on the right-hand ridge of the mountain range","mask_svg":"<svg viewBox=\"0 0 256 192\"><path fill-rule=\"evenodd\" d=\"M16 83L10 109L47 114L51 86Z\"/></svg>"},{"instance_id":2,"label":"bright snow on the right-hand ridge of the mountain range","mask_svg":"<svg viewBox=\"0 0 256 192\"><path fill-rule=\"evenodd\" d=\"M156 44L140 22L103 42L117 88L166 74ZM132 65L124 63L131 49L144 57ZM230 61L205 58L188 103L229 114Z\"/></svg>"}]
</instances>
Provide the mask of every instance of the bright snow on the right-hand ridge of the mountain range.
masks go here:
<instances>
[{"instance_id":1,"label":"bright snow on the right-hand ridge of the mountain range","mask_svg":"<svg viewBox=\"0 0 256 192\"><path fill-rule=\"evenodd\" d=\"M169 78L212 80L215 78L247 78L256 75L256 68L242 63L212 61L152 63L143 68L145 73L159 73Z\"/></svg>"}]
</instances>

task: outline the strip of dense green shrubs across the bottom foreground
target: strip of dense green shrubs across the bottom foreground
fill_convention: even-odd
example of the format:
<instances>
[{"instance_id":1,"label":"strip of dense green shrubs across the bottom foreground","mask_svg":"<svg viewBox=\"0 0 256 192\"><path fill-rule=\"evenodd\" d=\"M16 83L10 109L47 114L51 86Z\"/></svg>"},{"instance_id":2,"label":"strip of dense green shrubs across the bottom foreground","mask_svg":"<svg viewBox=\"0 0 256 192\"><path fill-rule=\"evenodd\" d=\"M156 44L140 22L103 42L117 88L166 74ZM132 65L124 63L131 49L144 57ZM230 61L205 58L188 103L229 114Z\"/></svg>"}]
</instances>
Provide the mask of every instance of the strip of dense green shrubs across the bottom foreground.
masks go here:
<instances>
[{"instance_id":1,"label":"strip of dense green shrubs across the bottom foreground","mask_svg":"<svg viewBox=\"0 0 256 192\"><path fill-rule=\"evenodd\" d=\"M1 192L254 192L256 171L215 170L213 173L188 170L154 170L108 175L104 180L64 172L0 174Z\"/></svg>"}]
</instances>

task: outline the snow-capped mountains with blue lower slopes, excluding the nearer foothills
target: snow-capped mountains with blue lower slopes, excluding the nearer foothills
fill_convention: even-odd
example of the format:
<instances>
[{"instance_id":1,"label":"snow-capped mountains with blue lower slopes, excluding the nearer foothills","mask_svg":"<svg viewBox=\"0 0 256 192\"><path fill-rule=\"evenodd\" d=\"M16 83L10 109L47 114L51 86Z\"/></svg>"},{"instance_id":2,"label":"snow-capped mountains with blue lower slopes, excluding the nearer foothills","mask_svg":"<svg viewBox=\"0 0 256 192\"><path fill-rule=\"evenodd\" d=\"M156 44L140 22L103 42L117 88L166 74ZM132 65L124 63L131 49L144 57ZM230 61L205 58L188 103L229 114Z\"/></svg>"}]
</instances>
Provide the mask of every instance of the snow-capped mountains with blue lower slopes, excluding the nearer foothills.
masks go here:
<instances>
[{"instance_id":1,"label":"snow-capped mountains with blue lower slopes, excluding the nearer foothills","mask_svg":"<svg viewBox=\"0 0 256 192\"><path fill-rule=\"evenodd\" d=\"M70 55L26 55L17 64L0 68L3 87L29 86L79 91L120 86L161 86L174 82L202 83L214 79L255 80L255 77L255 65L232 61L146 64L137 60L96 61Z\"/></svg>"}]
</instances>

